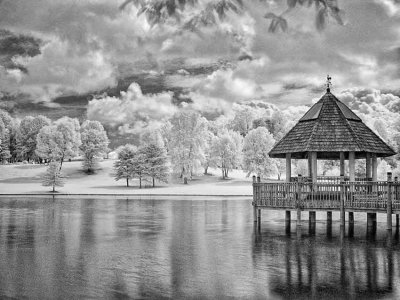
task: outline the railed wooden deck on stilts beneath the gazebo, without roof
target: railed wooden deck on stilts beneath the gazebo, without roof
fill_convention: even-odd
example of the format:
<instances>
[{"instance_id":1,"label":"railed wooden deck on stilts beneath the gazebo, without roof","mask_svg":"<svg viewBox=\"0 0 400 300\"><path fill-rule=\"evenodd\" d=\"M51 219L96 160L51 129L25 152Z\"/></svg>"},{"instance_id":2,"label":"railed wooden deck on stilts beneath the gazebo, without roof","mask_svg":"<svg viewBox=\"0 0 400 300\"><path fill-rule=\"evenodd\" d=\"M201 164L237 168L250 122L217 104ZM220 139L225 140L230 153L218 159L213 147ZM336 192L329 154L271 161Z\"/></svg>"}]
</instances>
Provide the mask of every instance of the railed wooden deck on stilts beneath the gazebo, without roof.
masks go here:
<instances>
[{"instance_id":1,"label":"railed wooden deck on stilts beneath the gazebo, without roof","mask_svg":"<svg viewBox=\"0 0 400 300\"><path fill-rule=\"evenodd\" d=\"M337 183L339 182L339 183ZM332 211L340 212L340 225L345 224L345 213L349 213L349 223L354 223L354 212L367 213L368 226L376 224L376 213L387 214L387 230L392 230L392 216L396 215L399 226L400 182L392 181L388 173L387 181L345 181L344 178L322 178L320 182L309 182L299 176L296 181L264 183L253 177L254 220L261 220L261 210L285 210L286 223L290 226L291 211L297 212L297 225L301 222L301 212L309 211L310 223L315 223L315 212L326 211L327 222L332 222Z\"/></svg>"}]
</instances>

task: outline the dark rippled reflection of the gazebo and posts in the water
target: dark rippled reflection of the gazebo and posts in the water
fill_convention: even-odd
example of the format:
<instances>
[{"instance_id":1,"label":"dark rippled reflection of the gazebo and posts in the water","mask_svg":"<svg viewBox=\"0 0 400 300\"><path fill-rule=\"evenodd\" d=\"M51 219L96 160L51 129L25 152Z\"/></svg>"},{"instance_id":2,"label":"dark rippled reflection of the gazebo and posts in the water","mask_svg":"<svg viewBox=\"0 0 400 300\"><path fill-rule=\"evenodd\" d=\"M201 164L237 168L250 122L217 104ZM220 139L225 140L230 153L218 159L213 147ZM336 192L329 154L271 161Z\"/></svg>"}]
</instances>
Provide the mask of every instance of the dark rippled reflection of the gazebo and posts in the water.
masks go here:
<instances>
[{"instance_id":1,"label":"dark rippled reflection of the gazebo and posts in the water","mask_svg":"<svg viewBox=\"0 0 400 300\"><path fill-rule=\"evenodd\" d=\"M399 240L340 240L323 235L276 236L256 231L253 263L275 270L268 281L282 299L392 299L398 297Z\"/></svg>"}]
</instances>

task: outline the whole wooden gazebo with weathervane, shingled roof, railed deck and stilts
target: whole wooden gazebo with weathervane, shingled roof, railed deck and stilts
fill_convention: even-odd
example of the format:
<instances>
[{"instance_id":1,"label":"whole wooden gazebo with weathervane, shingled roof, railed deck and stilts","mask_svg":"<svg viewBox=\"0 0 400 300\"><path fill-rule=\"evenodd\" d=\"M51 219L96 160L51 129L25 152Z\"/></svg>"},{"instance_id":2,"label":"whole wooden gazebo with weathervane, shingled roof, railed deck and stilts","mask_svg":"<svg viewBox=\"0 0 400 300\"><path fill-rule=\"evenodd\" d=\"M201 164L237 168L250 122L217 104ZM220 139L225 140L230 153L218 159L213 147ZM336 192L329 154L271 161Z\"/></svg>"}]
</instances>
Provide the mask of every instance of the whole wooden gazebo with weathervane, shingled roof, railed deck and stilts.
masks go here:
<instances>
[{"instance_id":1,"label":"whole wooden gazebo with weathervane, shingled roof, railed deck and stilts","mask_svg":"<svg viewBox=\"0 0 400 300\"><path fill-rule=\"evenodd\" d=\"M354 212L367 213L367 226L376 229L376 214L387 214L387 229L392 230L392 215L399 226L400 184L388 173L387 181L377 180L377 158L396 153L345 104L330 92L314 104L299 122L274 146L269 156L286 159L286 182L264 183L253 177L255 222L261 221L262 209L286 211L290 227L291 211L309 211L310 225L315 225L316 211L340 211L340 225L354 224ZM307 159L308 174L292 176L291 160ZM318 160L340 160L340 176L318 176ZM355 177L356 159L365 160L364 177ZM345 176L345 161L349 174ZM303 175L303 176L302 176Z\"/></svg>"}]
</instances>

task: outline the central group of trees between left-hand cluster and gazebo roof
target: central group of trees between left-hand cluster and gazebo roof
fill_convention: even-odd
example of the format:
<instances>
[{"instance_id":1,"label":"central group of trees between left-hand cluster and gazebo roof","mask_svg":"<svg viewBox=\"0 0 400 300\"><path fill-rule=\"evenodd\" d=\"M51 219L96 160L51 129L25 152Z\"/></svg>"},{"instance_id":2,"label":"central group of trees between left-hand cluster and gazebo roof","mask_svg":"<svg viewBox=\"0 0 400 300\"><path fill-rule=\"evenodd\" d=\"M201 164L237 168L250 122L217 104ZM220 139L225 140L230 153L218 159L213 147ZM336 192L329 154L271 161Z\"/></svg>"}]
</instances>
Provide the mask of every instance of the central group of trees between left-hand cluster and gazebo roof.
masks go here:
<instances>
[{"instance_id":1,"label":"central group of trees between left-hand cluster and gazebo roof","mask_svg":"<svg viewBox=\"0 0 400 300\"><path fill-rule=\"evenodd\" d=\"M172 173L186 184L200 170L208 174L213 167L220 169L223 179L233 169L243 169L248 176L280 178L284 166L268 152L291 124L280 111L262 117L248 106L237 106L232 116L215 120L182 109L162 126L142 132L139 148L128 144L117 149L113 176L127 186L133 178L140 186L142 179L152 179L154 186L154 179L166 182Z\"/></svg>"}]
</instances>

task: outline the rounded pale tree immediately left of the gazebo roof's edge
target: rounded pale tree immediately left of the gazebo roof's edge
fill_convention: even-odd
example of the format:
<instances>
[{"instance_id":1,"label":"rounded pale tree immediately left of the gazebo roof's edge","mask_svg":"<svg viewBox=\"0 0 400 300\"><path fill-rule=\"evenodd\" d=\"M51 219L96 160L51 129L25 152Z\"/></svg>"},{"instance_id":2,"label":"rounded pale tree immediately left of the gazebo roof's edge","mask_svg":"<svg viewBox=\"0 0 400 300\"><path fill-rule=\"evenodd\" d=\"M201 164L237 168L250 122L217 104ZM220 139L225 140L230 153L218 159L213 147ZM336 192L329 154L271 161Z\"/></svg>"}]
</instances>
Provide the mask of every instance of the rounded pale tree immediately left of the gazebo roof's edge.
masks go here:
<instances>
[{"instance_id":1,"label":"rounded pale tree immediately left of the gazebo roof's edge","mask_svg":"<svg viewBox=\"0 0 400 300\"><path fill-rule=\"evenodd\" d=\"M243 170L267 177L276 171L275 160L268 153L275 144L274 137L265 127L258 127L249 132L244 139Z\"/></svg>"}]
</instances>

